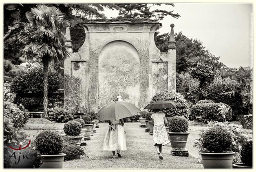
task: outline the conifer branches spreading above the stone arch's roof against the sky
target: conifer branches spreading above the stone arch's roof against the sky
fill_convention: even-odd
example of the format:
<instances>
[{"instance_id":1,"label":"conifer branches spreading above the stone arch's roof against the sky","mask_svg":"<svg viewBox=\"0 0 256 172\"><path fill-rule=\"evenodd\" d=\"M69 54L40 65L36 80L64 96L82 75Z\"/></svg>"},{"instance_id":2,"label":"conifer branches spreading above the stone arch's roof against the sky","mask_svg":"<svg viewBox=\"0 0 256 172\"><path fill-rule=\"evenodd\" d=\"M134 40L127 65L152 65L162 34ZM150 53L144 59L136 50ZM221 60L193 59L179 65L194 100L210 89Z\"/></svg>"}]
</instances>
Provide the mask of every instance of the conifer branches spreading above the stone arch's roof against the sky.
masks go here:
<instances>
[{"instance_id":1,"label":"conifer branches spreading above the stone arch's roof against the sky","mask_svg":"<svg viewBox=\"0 0 256 172\"><path fill-rule=\"evenodd\" d=\"M109 9L117 9L119 11L118 18L139 17L144 19L162 20L165 16L170 15L174 18L180 17L178 13L161 9L151 10L152 6L161 6L160 3L155 4L104 4ZM166 4L174 6L173 3Z\"/></svg>"}]
</instances>

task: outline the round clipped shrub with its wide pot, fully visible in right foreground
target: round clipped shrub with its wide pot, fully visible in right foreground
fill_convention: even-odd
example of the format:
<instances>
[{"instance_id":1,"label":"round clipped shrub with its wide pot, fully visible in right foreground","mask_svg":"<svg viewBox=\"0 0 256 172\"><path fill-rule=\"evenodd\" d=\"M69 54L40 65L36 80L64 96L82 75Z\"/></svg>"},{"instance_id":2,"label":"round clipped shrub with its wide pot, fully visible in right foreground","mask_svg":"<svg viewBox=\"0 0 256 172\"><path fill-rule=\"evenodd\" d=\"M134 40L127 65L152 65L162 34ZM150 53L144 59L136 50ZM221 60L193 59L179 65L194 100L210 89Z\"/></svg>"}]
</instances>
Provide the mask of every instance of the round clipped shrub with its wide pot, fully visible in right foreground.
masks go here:
<instances>
[{"instance_id":1,"label":"round clipped shrub with its wide pot, fully visible in right foreground","mask_svg":"<svg viewBox=\"0 0 256 172\"><path fill-rule=\"evenodd\" d=\"M234 152L230 151L232 133L220 125L210 127L201 133L203 168L232 168Z\"/></svg>"}]
</instances>

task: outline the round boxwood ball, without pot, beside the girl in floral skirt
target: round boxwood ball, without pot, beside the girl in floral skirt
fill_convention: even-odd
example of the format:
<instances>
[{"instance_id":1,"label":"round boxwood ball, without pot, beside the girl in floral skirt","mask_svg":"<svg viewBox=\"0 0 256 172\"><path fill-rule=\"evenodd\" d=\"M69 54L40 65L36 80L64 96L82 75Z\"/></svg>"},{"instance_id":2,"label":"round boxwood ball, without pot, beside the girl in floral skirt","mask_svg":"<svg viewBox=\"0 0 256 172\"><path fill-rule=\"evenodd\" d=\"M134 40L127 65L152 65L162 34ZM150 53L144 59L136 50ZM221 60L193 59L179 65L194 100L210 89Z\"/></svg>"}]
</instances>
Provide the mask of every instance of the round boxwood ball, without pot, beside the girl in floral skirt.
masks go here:
<instances>
[{"instance_id":1,"label":"round boxwood ball, without pot, beside the girl in floral skirt","mask_svg":"<svg viewBox=\"0 0 256 172\"><path fill-rule=\"evenodd\" d=\"M183 116L173 116L168 118L170 132L188 132L188 119Z\"/></svg>"}]
</instances>

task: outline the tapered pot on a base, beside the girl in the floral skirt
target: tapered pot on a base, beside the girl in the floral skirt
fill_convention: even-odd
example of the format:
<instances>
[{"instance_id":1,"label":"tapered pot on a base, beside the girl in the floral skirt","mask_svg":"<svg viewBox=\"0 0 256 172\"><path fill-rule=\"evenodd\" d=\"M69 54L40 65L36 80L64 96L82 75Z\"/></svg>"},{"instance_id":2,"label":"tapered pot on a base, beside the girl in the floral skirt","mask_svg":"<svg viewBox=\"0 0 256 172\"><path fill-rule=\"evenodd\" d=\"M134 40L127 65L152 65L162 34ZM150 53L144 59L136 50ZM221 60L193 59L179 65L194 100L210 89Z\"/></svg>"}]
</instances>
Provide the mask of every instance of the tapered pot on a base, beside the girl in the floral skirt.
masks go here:
<instances>
[{"instance_id":1,"label":"tapered pot on a base, beside the girl in the floral skirt","mask_svg":"<svg viewBox=\"0 0 256 172\"><path fill-rule=\"evenodd\" d=\"M185 149L189 133L168 132L172 149Z\"/></svg>"}]
</instances>

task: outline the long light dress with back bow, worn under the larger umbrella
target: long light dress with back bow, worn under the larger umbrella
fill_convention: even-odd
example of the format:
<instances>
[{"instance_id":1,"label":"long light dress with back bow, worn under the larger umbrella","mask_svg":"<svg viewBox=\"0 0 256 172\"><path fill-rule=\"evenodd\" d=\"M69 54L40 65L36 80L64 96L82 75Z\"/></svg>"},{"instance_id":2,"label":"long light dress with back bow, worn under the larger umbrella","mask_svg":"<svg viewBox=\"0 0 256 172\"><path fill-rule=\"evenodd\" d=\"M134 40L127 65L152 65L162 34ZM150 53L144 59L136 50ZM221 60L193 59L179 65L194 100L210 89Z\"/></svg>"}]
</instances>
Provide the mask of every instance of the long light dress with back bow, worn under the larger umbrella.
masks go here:
<instances>
[{"instance_id":1,"label":"long light dress with back bow, worn under the larger umbrella","mask_svg":"<svg viewBox=\"0 0 256 172\"><path fill-rule=\"evenodd\" d=\"M103 150L127 150L124 127L120 124L120 120L111 120L111 125L106 132Z\"/></svg>"}]
</instances>

